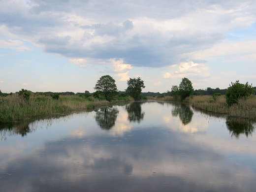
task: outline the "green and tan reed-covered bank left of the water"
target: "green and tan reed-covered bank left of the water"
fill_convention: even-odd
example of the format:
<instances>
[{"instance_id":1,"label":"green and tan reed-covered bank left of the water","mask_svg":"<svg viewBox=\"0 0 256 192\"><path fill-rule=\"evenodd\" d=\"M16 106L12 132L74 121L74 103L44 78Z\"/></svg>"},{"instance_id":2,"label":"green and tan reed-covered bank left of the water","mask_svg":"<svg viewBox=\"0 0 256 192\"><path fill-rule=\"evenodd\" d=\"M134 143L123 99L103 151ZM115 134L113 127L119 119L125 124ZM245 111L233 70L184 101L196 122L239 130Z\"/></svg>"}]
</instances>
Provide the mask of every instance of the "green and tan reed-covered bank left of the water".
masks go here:
<instances>
[{"instance_id":1,"label":"green and tan reed-covered bank left of the water","mask_svg":"<svg viewBox=\"0 0 256 192\"><path fill-rule=\"evenodd\" d=\"M127 98L124 98L127 100ZM118 99L120 101L122 99ZM92 96L60 96L53 99L51 96L32 94L28 100L18 94L0 97L0 123L10 123L25 118L41 115L64 113L66 111L107 106L106 100L99 100Z\"/></svg>"}]
</instances>

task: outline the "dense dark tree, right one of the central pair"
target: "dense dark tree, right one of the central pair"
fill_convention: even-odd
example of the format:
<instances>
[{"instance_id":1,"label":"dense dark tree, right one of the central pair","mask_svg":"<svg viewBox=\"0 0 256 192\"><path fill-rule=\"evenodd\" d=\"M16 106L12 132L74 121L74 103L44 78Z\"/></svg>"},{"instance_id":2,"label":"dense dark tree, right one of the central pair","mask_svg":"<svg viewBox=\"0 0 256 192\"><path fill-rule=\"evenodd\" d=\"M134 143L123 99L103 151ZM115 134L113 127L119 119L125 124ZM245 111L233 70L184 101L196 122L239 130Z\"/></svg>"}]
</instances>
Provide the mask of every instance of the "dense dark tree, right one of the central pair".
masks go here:
<instances>
[{"instance_id":1,"label":"dense dark tree, right one of the central pair","mask_svg":"<svg viewBox=\"0 0 256 192\"><path fill-rule=\"evenodd\" d=\"M130 78L127 81L127 85L126 93L128 96L133 97L134 100L140 99L142 88L145 88L144 81L141 80L140 77L133 79Z\"/></svg>"}]
</instances>

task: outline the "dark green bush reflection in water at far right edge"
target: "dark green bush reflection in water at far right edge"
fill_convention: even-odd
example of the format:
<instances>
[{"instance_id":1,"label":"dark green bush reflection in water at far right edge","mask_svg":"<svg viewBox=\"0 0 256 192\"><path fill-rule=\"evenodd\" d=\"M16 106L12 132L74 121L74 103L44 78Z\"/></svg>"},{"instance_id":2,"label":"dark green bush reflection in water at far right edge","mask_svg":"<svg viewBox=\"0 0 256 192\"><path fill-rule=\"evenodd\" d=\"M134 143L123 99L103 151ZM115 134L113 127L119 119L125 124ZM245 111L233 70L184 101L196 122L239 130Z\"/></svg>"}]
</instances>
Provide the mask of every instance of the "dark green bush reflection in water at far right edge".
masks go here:
<instances>
[{"instance_id":1,"label":"dark green bush reflection in water at far right edge","mask_svg":"<svg viewBox=\"0 0 256 192\"><path fill-rule=\"evenodd\" d=\"M227 117L226 127L229 130L229 133L231 133L231 137L235 136L236 138L239 138L240 134L245 134L246 137L248 137L249 135L253 135L256 122L248 119Z\"/></svg>"}]
</instances>

